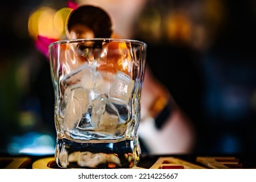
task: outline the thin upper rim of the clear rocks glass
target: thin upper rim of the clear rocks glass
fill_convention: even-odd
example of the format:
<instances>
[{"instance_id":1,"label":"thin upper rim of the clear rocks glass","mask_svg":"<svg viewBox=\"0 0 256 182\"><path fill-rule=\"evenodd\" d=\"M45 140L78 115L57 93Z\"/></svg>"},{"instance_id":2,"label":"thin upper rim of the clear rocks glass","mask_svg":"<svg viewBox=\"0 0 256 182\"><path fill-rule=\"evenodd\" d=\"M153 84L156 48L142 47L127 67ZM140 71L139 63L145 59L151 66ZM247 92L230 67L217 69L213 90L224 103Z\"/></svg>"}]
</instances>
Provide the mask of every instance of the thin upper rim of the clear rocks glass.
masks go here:
<instances>
[{"instance_id":1,"label":"thin upper rim of the clear rocks glass","mask_svg":"<svg viewBox=\"0 0 256 182\"><path fill-rule=\"evenodd\" d=\"M53 47L54 45L62 45L62 44L72 44L77 42L94 42L94 41L102 41L102 42L130 42L133 44L141 44L147 46L147 43L141 40L128 39L128 38L76 38L76 39L66 39L66 40L58 40L55 42L51 42L48 47Z\"/></svg>"}]
</instances>

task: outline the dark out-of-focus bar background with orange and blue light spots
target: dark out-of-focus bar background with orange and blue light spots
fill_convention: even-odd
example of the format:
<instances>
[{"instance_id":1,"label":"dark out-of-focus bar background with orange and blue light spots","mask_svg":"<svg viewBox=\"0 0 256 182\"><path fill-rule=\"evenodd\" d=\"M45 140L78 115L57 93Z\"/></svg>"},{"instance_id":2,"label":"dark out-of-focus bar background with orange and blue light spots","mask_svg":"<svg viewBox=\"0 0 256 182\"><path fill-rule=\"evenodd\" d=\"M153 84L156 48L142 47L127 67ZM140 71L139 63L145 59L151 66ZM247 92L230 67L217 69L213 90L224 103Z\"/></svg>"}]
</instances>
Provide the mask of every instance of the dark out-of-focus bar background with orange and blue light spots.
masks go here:
<instances>
[{"instance_id":1,"label":"dark out-of-focus bar background with orange and blue light spots","mask_svg":"<svg viewBox=\"0 0 256 182\"><path fill-rule=\"evenodd\" d=\"M66 2L1 3L0 153L54 152L49 62L35 42L63 36L48 28ZM256 1L149 0L135 27L152 72L195 125L193 152L256 153Z\"/></svg>"}]
</instances>

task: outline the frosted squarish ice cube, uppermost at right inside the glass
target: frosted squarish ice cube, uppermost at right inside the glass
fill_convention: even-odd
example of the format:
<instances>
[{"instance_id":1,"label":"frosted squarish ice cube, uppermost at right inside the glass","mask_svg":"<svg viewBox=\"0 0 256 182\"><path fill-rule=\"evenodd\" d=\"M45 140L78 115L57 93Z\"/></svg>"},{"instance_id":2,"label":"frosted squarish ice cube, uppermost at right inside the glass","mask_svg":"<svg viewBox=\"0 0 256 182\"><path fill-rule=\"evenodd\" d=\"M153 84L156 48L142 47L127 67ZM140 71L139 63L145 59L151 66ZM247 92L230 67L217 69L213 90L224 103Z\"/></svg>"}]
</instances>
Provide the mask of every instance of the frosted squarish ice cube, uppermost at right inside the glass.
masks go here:
<instances>
[{"instance_id":1,"label":"frosted squarish ice cube, uppermost at right inside the glass","mask_svg":"<svg viewBox=\"0 0 256 182\"><path fill-rule=\"evenodd\" d=\"M127 104L134 89L134 80L122 72L117 72L113 85L109 90L109 101Z\"/></svg>"}]
</instances>

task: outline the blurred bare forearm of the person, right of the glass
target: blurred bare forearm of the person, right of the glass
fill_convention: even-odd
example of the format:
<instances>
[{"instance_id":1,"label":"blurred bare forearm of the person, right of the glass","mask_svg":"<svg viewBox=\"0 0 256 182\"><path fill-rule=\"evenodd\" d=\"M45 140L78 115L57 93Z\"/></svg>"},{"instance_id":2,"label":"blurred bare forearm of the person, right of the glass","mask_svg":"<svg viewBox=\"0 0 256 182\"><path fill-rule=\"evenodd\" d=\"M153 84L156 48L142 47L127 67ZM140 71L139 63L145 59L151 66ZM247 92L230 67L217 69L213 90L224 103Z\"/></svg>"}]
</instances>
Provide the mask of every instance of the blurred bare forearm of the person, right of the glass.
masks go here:
<instances>
[{"instance_id":1,"label":"blurred bare forearm of the person, right of the glass","mask_svg":"<svg viewBox=\"0 0 256 182\"><path fill-rule=\"evenodd\" d=\"M166 105L170 107L170 112L158 128L154 118L158 117ZM191 121L171 98L167 89L150 73L149 68L145 73L141 94L141 123L138 132L149 153L156 155L190 153L195 141Z\"/></svg>"}]
</instances>

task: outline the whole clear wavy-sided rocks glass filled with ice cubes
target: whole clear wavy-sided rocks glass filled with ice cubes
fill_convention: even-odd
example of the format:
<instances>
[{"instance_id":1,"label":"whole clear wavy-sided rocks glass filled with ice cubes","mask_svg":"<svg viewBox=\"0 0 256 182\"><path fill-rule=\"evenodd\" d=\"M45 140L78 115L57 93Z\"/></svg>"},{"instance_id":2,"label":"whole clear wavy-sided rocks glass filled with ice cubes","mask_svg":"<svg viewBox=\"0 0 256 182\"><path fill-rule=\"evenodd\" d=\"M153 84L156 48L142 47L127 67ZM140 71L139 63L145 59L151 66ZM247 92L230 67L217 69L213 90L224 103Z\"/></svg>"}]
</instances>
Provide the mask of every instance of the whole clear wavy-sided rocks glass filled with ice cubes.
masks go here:
<instances>
[{"instance_id":1,"label":"whole clear wavy-sided rocks glass filled with ice cubes","mask_svg":"<svg viewBox=\"0 0 256 182\"><path fill-rule=\"evenodd\" d=\"M132 168L147 45L73 39L49 45L55 92L55 161L61 168Z\"/></svg>"}]
</instances>

